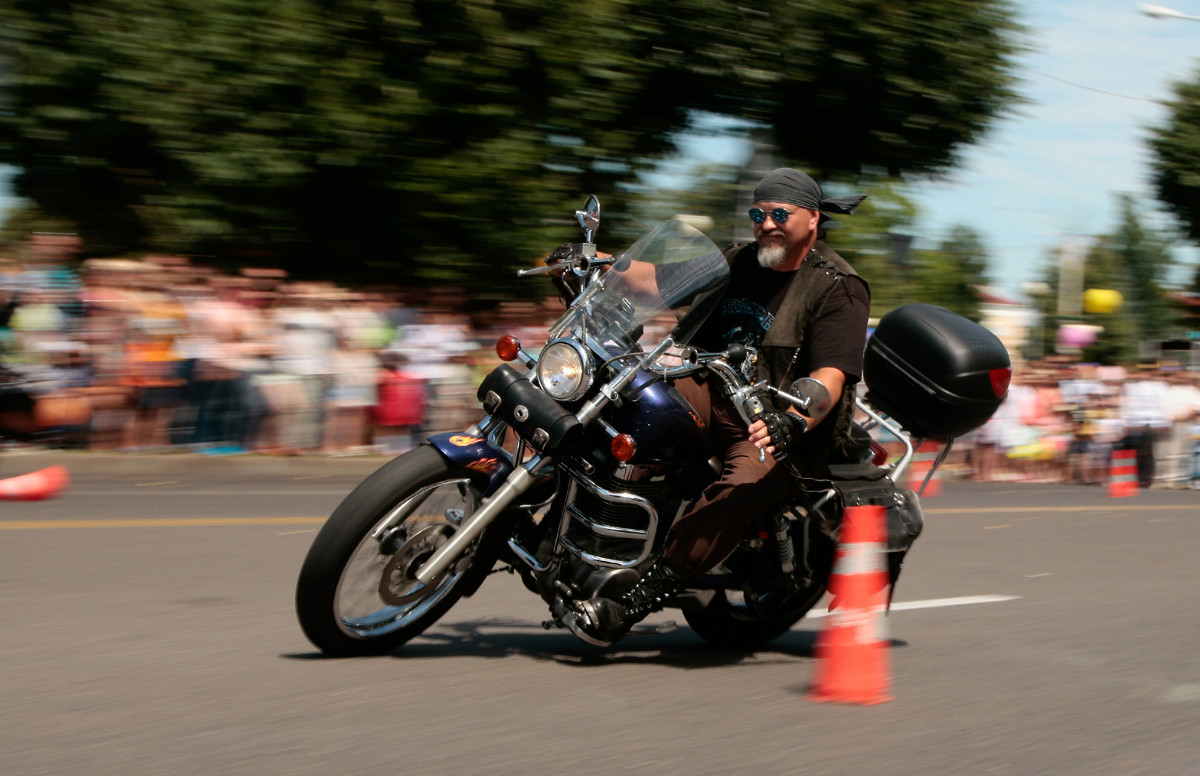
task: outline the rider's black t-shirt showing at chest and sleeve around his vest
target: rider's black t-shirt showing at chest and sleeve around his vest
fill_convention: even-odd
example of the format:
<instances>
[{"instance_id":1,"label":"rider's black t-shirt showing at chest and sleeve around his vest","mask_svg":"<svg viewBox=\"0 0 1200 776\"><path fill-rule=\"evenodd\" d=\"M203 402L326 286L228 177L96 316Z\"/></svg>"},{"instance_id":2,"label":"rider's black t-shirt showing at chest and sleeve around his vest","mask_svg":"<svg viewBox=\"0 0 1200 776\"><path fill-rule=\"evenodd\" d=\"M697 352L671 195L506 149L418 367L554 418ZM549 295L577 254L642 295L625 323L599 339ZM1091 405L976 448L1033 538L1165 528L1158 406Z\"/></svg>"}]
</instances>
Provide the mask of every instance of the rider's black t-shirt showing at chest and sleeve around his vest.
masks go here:
<instances>
[{"instance_id":1,"label":"rider's black t-shirt showing at chest and sleeve around his vest","mask_svg":"<svg viewBox=\"0 0 1200 776\"><path fill-rule=\"evenodd\" d=\"M752 254L748 258L734 263L725 297L696 336L697 347L714 351L732 343L757 348L767 336L792 272L760 266ZM844 276L809 321L808 331L797 332L797 339L803 335L802 368L797 373L834 367L848 383L857 383L863 374L869 314L866 284L852 275Z\"/></svg>"}]
</instances>

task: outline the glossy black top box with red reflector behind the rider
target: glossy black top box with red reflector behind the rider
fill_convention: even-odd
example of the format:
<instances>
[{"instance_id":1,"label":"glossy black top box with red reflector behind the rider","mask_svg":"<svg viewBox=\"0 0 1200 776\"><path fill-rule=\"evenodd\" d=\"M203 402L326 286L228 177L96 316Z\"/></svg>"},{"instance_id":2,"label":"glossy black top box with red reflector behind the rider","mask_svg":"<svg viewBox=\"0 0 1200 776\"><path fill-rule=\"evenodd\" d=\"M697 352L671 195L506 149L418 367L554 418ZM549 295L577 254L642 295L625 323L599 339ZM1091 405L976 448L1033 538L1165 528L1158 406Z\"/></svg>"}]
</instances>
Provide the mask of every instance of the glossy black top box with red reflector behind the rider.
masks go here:
<instances>
[{"instance_id":1,"label":"glossy black top box with red reflector behind the rider","mask_svg":"<svg viewBox=\"0 0 1200 776\"><path fill-rule=\"evenodd\" d=\"M904 305L866 342L866 401L919 439L983 426L1008 395L1008 350L979 324L935 305Z\"/></svg>"}]
</instances>

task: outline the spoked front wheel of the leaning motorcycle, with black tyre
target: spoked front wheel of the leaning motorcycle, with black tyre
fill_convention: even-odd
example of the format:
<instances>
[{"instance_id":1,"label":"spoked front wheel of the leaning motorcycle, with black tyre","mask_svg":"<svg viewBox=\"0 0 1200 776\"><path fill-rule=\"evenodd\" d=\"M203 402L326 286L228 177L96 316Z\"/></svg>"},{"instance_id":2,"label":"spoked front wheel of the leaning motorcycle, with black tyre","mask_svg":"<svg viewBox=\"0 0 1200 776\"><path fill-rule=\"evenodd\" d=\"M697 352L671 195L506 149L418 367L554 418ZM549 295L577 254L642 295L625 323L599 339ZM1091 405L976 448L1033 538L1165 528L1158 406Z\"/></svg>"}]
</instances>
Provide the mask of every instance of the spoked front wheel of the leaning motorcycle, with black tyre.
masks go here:
<instances>
[{"instance_id":1,"label":"spoked front wheel of the leaning motorcycle, with black tyre","mask_svg":"<svg viewBox=\"0 0 1200 776\"><path fill-rule=\"evenodd\" d=\"M386 654L421 633L491 571L491 529L440 578L414 578L473 513L464 469L422 445L362 481L317 534L296 584L305 636L328 655Z\"/></svg>"}]
</instances>

